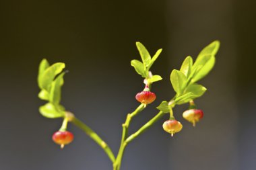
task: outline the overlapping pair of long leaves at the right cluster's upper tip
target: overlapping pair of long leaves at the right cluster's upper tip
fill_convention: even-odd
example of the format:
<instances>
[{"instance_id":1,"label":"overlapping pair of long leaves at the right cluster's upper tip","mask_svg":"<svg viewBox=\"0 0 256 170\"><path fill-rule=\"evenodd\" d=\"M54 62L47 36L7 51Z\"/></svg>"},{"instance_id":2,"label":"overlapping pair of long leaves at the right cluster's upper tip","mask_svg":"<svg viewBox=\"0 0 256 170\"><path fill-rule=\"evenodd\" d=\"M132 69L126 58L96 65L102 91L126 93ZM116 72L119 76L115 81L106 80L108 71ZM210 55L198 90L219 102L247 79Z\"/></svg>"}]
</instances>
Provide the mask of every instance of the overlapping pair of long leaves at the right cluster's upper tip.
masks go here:
<instances>
[{"instance_id":1,"label":"overlapping pair of long leaves at the right cluster's upper tip","mask_svg":"<svg viewBox=\"0 0 256 170\"><path fill-rule=\"evenodd\" d=\"M195 64L193 65L193 69L201 65L201 69L198 71L198 73L193 77L193 83L196 81L199 81L205 75L207 75L215 64L215 55L218 52L218 49L220 48L220 42L214 41L199 53L197 56L197 59L195 60Z\"/></svg>"}]
</instances>

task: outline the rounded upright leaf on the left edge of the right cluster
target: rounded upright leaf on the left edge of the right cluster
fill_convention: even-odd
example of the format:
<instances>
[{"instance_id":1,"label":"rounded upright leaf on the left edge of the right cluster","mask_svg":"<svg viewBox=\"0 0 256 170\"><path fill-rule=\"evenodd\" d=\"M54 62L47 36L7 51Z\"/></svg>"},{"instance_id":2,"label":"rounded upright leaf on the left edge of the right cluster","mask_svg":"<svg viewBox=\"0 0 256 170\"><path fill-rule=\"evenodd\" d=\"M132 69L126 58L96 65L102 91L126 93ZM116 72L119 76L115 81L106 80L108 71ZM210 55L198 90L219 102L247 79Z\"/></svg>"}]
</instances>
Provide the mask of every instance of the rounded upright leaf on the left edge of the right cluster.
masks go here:
<instances>
[{"instance_id":1,"label":"rounded upright leaf on the left edge of the right cluster","mask_svg":"<svg viewBox=\"0 0 256 170\"><path fill-rule=\"evenodd\" d=\"M173 70L170 74L170 82L172 83L172 87L174 91L176 91L177 95L183 93L183 89L187 83L186 76L181 73L181 71Z\"/></svg>"}]
</instances>

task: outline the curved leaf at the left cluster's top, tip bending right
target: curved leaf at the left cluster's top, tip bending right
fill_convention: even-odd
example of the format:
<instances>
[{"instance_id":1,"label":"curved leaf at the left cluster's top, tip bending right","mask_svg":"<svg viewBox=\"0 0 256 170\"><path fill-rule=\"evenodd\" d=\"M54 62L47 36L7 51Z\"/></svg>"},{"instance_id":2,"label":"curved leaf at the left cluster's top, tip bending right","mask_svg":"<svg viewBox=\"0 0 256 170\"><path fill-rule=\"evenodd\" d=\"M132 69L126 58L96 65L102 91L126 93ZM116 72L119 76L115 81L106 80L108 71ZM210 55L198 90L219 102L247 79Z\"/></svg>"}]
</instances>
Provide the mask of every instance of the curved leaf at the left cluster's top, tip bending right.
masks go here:
<instances>
[{"instance_id":1,"label":"curved leaf at the left cluster's top, tip bending right","mask_svg":"<svg viewBox=\"0 0 256 170\"><path fill-rule=\"evenodd\" d=\"M42 78L40 79L40 85L43 89L50 92L51 84L55 76L61 73L61 71L65 68L65 64L63 62L57 62L54 65L48 67L44 73L42 74Z\"/></svg>"}]
</instances>

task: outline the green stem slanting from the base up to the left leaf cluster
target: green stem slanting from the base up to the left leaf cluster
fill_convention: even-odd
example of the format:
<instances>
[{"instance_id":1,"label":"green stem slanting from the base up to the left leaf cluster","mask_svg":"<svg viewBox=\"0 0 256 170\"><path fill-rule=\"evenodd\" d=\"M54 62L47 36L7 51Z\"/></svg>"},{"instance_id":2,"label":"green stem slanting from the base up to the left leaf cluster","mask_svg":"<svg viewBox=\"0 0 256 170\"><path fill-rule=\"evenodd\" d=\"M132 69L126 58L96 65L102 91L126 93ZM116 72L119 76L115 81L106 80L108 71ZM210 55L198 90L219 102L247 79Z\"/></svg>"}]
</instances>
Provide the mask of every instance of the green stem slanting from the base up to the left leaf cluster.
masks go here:
<instances>
[{"instance_id":1,"label":"green stem slanting from the base up to the left leaf cluster","mask_svg":"<svg viewBox=\"0 0 256 170\"><path fill-rule=\"evenodd\" d=\"M89 128L86 124L84 124L84 122L78 120L75 117L73 117L71 119L71 123L73 123L75 126L77 126L78 128L82 129L84 132L86 132L86 134L88 136L90 136L90 138L92 138L92 140L94 140L98 145L100 145L100 147L102 147L102 149L105 151L106 155L108 155L110 161L112 161L113 163L115 162L115 156L114 156L113 152L111 151L111 149L109 148L108 144L106 144L106 142L104 142L100 138L100 136L98 136L98 134L96 134L96 132L94 132L91 128Z\"/></svg>"}]
</instances>

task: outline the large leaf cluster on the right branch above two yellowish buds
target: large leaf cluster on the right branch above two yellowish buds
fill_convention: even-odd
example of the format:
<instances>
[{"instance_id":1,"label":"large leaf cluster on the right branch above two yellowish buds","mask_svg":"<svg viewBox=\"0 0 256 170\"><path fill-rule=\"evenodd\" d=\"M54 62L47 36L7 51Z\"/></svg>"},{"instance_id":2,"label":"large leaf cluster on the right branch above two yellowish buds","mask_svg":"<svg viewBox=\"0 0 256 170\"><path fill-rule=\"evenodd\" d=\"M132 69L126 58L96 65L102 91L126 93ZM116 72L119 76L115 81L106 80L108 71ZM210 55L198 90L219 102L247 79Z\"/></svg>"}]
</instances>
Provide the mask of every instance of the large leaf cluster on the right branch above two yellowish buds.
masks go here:
<instances>
[{"instance_id":1,"label":"large leaf cluster on the right branch above two yellowish buds","mask_svg":"<svg viewBox=\"0 0 256 170\"><path fill-rule=\"evenodd\" d=\"M199 53L195 63L191 56L187 56L181 65L180 71L173 70L170 81L174 91L177 93L175 101L177 104L187 103L190 100L201 97L206 88L195 82L210 73L215 64L215 55L220 47L220 42L214 41Z\"/></svg>"}]
</instances>

